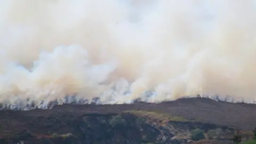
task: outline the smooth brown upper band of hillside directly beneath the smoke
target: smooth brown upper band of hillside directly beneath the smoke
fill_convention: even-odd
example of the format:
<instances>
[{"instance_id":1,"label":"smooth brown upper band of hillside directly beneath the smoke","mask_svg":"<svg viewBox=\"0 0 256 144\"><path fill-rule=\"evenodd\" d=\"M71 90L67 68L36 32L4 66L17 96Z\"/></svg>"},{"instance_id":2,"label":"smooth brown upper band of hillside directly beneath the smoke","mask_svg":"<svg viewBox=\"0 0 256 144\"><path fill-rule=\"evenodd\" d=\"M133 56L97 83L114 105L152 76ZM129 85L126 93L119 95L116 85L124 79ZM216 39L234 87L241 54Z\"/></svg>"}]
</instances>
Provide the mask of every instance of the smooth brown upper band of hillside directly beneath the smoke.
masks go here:
<instances>
[{"instance_id":1,"label":"smooth brown upper band of hillside directly beneath the smoke","mask_svg":"<svg viewBox=\"0 0 256 144\"><path fill-rule=\"evenodd\" d=\"M10 129L25 126L38 117L78 117L89 113L120 114L125 110L160 111L188 120L252 130L256 126L256 105L220 102L207 98L186 98L162 103L136 102L131 105L61 105L29 111L1 110L0 124ZM12 119L12 120L11 120ZM11 121L10 121L11 120ZM3 130L4 127L1 129Z\"/></svg>"}]
</instances>

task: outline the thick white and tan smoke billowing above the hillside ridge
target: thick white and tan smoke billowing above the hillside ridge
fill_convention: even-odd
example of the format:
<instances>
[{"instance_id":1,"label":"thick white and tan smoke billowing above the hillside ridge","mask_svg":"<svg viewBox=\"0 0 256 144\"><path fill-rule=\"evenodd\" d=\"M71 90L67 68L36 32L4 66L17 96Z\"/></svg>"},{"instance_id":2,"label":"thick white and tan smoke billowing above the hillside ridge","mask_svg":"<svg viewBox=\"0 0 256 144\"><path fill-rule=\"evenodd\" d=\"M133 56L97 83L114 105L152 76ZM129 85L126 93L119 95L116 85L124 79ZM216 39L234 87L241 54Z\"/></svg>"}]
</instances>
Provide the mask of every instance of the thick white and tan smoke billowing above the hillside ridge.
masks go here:
<instances>
[{"instance_id":1,"label":"thick white and tan smoke billowing above the hillside ridge","mask_svg":"<svg viewBox=\"0 0 256 144\"><path fill-rule=\"evenodd\" d=\"M2 0L0 103L254 101L256 3Z\"/></svg>"}]
</instances>

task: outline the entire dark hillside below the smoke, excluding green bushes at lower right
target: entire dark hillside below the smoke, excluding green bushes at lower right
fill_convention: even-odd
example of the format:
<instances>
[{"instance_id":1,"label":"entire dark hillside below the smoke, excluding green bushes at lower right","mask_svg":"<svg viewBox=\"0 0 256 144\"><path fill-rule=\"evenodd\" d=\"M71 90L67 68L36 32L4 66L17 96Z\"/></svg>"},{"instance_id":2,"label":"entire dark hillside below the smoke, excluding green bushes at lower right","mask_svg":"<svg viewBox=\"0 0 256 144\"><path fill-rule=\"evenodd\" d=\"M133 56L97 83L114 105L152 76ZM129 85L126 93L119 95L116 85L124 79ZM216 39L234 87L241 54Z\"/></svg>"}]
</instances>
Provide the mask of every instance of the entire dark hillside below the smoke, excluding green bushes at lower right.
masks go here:
<instances>
[{"instance_id":1,"label":"entire dark hillside below the smoke, excluding green bushes at lower right","mask_svg":"<svg viewBox=\"0 0 256 144\"><path fill-rule=\"evenodd\" d=\"M205 133L221 129L223 137L207 143L230 143L236 130L251 137L250 131L256 126L255 109L254 104L207 98L157 104L60 105L29 111L3 109L0 143L192 143L188 133L194 129Z\"/></svg>"}]
</instances>

